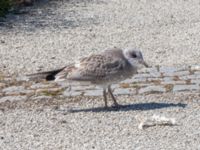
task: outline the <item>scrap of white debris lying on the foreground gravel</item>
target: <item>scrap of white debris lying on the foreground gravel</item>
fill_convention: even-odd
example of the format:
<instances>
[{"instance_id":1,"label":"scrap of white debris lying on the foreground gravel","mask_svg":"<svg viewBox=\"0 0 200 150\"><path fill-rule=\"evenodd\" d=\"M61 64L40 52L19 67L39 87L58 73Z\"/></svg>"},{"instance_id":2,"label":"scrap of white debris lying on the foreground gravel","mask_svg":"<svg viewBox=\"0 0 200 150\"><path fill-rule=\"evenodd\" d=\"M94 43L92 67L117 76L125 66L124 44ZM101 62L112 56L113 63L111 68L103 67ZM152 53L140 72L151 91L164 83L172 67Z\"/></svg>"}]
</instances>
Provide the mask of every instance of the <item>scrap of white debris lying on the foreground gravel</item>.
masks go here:
<instances>
[{"instance_id":1,"label":"scrap of white debris lying on the foreground gravel","mask_svg":"<svg viewBox=\"0 0 200 150\"><path fill-rule=\"evenodd\" d=\"M140 121L138 128L140 130L152 127L152 126L173 126L177 125L175 118L167 118L165 116L153 115L150 118L142 118L136 116L136 119Z\"/></svg>"}]
</instances>

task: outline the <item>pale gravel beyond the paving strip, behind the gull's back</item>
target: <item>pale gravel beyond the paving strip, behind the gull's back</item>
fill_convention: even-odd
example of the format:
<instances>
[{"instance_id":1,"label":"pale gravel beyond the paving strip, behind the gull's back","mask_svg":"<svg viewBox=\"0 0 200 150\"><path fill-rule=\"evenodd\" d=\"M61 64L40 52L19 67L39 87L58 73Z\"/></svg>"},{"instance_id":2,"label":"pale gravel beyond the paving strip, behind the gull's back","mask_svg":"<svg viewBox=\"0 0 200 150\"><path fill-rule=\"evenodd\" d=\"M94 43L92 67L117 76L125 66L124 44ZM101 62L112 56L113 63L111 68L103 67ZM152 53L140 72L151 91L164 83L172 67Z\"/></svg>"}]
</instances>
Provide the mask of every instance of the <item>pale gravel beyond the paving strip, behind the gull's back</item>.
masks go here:
<instances>
[{"instance_id":1,"label":"pale gravel beyond the paving strip, behind the gull's back","mask_svg":"<svg viewBox=\"0 0 200 150\"><path fill-rule=\"evenodd\" d=\"M4 72L49 70L114 46L141 49L151 65L200 63L196 0L62 0L28 9L1 23Z\"/></svg>"}]
</instances>

